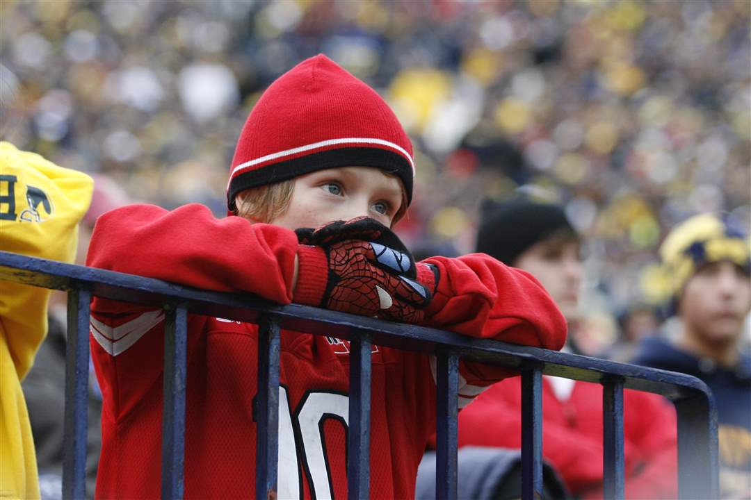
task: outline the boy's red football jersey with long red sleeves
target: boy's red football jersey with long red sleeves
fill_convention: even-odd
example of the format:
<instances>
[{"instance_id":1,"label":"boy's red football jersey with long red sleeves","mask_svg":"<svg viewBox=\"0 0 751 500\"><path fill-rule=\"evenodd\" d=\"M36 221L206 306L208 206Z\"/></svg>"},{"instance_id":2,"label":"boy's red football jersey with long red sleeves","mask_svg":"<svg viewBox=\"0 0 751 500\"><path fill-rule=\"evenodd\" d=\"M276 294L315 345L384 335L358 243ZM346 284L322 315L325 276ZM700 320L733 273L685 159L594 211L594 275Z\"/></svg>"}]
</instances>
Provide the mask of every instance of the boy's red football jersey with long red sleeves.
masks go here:
<instances>
[{"instance_id":1,"label":"boy's red football jersey with long red sleeves","mask_svg":"<svg viewBox=\"0 0 751 500\"><path fill-rule=\"evenodd\" d=\"M297 236L240 217L216 220L202 205L112 211L98 222L88 264L198 286L252 292L288 304ZM477 337L559 349L566 326L529 274L487 256L430 259L441 279L426 324ZM99 498L160 493L164 316L96 298L92 356L102 388ZM189 316L185 496L252 496L255 475L256 325ZM279 498L345 496L348 344L282 331ZM431 358L373 346L371 496L410 498L427 436L435 431ZM501 378L461 364L469 401Z\"/></svg>"}]
</instances>

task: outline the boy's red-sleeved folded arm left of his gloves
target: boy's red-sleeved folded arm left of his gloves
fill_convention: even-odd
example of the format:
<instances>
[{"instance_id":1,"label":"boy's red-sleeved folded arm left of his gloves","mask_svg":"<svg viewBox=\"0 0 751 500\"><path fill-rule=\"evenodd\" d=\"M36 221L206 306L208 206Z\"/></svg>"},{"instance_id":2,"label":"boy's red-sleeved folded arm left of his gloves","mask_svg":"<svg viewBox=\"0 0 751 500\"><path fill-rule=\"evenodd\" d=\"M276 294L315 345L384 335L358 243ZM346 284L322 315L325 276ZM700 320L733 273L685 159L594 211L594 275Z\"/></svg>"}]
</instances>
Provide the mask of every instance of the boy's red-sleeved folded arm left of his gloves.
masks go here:
<instances>
[{"instance_id":1,"label":"boy's red-sleeved folded arm left of his gloves","mask_svg":"<svg viewBox=\"0 0 751 500\"><path fill-rule=\"evenodd\" d=\"M288 304L296 256L289 229L216 219L195 203L173 211L129 205L98 219L86 265Z\"/></svg>"}]
</instances>

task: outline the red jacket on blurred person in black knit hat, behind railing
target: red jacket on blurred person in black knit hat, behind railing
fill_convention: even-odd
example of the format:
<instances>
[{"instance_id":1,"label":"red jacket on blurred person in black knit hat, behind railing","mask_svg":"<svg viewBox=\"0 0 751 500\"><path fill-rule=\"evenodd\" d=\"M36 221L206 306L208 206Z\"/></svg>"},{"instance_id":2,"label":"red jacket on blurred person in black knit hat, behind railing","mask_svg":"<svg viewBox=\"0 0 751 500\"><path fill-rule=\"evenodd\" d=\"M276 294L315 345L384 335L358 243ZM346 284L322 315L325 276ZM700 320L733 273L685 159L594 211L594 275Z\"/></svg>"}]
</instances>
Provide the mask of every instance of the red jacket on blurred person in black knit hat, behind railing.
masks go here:
<instances>
[{"instance_id":1,"label":"red jacket on blurred person in black knit hat, behind railing","mask_svg":"<svg viewBox=\"0 0 751 500\"><path fill-rule=\"evenodd\" d=\"M602 498L602 385L575 382L568 400L542 384L542 454L577 496ZM674 409L657 394L623 391L626 499L677 497ZM521 447L521 378L487 388L459 414L459 445Z\"/></svg>"}]
</instances>

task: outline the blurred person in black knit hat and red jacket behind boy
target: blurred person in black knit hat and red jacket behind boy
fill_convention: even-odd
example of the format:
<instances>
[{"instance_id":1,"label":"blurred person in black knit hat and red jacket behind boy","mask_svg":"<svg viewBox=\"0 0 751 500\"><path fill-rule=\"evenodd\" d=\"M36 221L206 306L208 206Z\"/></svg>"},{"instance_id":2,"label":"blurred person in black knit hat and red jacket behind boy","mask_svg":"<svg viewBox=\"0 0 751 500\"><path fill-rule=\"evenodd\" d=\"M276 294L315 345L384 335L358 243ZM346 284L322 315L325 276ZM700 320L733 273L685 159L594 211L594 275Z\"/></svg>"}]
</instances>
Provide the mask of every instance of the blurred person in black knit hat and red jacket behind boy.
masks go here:
<instances>
[{"instance_id":1,"label":"blurred person in black knit hat and red jacket behind boy","mask_svg":"<svg viewBox=\"0 0 751 500\"><path fill-rule=\"evenodd\" d=\"M477 250L528 271L577 319L581 238L558 205L526 196L486 210ZM577 328L569 322L569 331ZM569 352L578 349L569 335ZM459 414L460 446L521 446L520 378L495 384ZM579 498L602 498L602 385L543 377L543 457ZM677 495L675 412L662 397L623 391L627 499Z\"/></svg>"}]
</instances>

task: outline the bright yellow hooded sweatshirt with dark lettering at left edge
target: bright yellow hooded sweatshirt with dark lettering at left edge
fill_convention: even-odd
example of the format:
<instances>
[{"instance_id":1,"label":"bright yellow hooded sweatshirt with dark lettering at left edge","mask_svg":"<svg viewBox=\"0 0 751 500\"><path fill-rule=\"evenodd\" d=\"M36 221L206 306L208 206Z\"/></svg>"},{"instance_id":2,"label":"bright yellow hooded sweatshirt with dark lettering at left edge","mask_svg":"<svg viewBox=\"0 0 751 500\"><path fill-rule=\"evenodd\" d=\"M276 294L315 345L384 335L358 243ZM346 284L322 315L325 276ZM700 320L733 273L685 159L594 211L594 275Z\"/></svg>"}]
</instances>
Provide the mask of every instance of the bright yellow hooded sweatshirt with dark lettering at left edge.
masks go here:
<instances>
[{"instance_id":1,"label":"bright yellow hooded sweatshirt with dark lettering at left edge","mask_svg":"<svg viewBox=\"0 0 751 500\"><path fill-rule=\"evenodd\" d=\"M0 250L73 262L93 186L86 174L0 142ZM48 289L0 281L0 499L39 498L21 379L47 334L49 298Z\"/></svg>"}]
</instances>

